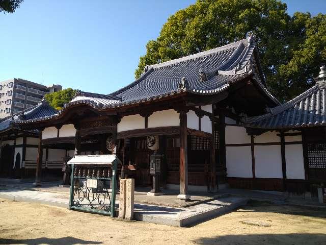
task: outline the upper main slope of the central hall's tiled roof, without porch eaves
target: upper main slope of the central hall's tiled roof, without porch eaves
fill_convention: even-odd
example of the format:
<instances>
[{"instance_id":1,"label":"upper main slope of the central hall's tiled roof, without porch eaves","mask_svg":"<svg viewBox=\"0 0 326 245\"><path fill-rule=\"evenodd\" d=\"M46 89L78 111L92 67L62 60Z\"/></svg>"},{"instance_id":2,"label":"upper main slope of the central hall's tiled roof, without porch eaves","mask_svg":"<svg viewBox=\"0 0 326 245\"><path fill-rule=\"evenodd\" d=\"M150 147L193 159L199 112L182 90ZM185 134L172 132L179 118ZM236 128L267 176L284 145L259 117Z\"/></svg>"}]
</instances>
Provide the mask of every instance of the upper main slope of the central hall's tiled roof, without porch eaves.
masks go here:
<instances>
[{"instance_id":1,"label":"upper main slope of the central hall's tiled roof, without porch eaves","mask_svg":"<svg viewBox=\"0 0 326 245\"><path fill-rule=\"evenodd\" d=\"M157 96L176 90L182 77L189 91L209 94L235 79L244 70L256 46L254 37L180 59L147 66L147 71L135 82L112 93L124 102ZM204 72L206 80L201 80Z\"/></svg>"}]
</instances>

